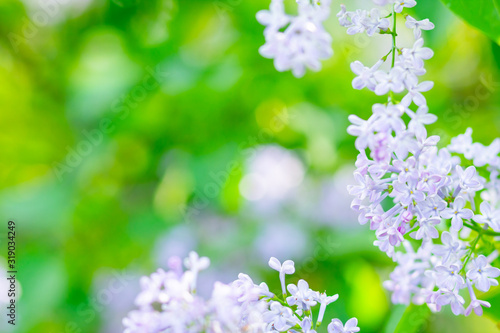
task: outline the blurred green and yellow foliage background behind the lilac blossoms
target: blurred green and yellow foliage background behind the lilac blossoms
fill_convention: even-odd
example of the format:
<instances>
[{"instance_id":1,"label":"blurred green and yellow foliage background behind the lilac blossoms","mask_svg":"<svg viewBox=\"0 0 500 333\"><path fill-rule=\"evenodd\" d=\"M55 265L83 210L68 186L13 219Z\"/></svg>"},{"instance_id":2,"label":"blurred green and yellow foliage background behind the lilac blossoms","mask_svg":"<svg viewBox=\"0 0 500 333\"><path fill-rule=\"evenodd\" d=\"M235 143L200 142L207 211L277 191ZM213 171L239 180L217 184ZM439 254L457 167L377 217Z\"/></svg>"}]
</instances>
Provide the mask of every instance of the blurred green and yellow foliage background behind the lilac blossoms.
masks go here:
<instances>
[{"instance_id":1,"label":"blurred green and yellow foliage background behind the lilac blossoms","mask_svg":"<svg viewBox=\"0 0 500 333\"><path fill-rule=\"evenodd\" d=\"M290 282L340 294L326 318L394 331L405 307L381 286L393 263L345 189L347 116L383 99L352 89L349 64L375 63L388 36L347 36L332 15L334 56L298 80L258 54L268 0L61 2L0 3L0 213L4 230L17 223L22 289L15 329L0 331L121 332L138 278L191 249L212 259L205 290L240 271L277 288L267 259L293 259ZM489 144L499 46L439 1L412 12L436 24L430 131L447 144L470 126ZM495 332L499 306L482 318L411 308L408 332Z\"/></svg>"}]
</instances>

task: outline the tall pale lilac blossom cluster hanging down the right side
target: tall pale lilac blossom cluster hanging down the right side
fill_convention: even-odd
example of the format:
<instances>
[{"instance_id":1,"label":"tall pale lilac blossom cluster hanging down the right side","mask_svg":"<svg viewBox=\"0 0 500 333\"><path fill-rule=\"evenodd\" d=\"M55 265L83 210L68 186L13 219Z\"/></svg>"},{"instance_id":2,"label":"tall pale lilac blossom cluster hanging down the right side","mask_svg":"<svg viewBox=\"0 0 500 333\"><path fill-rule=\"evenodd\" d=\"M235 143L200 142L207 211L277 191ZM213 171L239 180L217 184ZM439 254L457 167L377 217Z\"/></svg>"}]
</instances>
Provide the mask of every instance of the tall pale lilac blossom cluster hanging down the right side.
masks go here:
<instances>
[{"instance_id":1,"label":"tall pale lilac blossom cluster hanging down the right side","mask_svg":"<svg viewBox=\"0 0 500 333\"><path fill-rule=\"evenodd\" d=\"M427 303L433 311L450 305L455 315L481 315L490 304L478 300L475 290L488 291L500 275L491 266L498 257L492 241L500 236L500 139L490 146L473 143L468 129L448 147L437 147L439 136L428 136L425 127L437 117L428 113L422 95L433 83L418 82L424 60L433 56L423 46L422 30L434 25L402 13L415 1L374 2L391 5L390 14L380 18L378 10L347 12L344 6L338 14L348 33L378 32L393 41L374 66L351 65L358 75L354 88L389 94L387 103L373 106L368 120L349 117L348 133L357 137L360 152L357 185L348 187L355 196L352 208L359 222L375 231L374 244L397 263L384 283L394 303ZM396 45L398 16L414 31L412 48ZM381 70L389 55L390 69ZM395 94L405 91L397 100Z\"/></svg>"}]
</instances>

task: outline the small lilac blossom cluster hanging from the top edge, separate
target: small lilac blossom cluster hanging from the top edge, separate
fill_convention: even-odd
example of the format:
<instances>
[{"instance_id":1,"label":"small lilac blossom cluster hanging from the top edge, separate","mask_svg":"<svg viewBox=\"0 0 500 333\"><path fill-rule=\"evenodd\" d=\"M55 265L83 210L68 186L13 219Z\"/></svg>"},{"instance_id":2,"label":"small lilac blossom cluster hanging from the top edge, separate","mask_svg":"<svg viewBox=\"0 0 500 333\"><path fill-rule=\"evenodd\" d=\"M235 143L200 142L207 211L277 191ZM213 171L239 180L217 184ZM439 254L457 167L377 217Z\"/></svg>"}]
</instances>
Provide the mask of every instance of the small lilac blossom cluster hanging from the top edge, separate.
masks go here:
<instances>
[{"instance_id":1,"label":"small lilac blossom cluster hanging from the top edge, separate","mask_svg":"<svg viewBox=\"0 0 500 333\"><path fill-rule=\"evenodd\" d=\"M274 59L278 71L292 70L294 76L302 77L306 68L320 70L320 60L333 54L332 38L322 23L330 16L331 0L296 1L296 16L285 12L284 0L271 0L269 10L257 13L257 20L266 26L266 43L259 52Z\"/></svg>"}]
</instances>

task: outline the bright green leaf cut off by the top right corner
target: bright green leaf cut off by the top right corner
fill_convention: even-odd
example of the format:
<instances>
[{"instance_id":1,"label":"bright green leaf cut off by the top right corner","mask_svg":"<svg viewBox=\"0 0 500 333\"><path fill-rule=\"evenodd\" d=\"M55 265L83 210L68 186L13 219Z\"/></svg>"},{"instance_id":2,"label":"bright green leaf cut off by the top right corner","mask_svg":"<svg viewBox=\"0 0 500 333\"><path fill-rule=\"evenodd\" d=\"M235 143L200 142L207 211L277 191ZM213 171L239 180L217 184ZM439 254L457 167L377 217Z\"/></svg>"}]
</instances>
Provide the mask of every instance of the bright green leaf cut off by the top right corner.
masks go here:
<instances>
[{"instance_id":1,"label":"bright green leaf cut off by the top right corner","mask_svg":"<svg viewBox=\"0 0 500 333\"><path fill-rule=\"evenodd\" d=\"M500 0L441 0L452 12L500 44Z\"/></svg>"}]
</instances>

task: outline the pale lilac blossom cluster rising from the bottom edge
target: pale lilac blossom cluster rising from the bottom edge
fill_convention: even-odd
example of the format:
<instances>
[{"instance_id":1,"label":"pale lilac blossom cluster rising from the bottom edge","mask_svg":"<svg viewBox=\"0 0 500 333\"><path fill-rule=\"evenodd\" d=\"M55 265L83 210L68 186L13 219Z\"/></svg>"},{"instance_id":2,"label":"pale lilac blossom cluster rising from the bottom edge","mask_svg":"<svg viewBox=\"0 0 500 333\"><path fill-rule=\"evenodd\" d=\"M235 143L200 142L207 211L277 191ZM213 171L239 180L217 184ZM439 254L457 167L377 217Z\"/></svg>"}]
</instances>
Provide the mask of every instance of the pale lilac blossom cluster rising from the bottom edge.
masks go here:
<instances>
[{"instance_id":1,"label":"pale lilac blossom cluster rising from the bottom edge","mask_svg":"<svg viewBox=\"0 0 500 333\"><path fill-rule=\"evenodd\" d=\"M285 288L285 276L295 272L294 262L283 264L276 258L269 266L279 272L281 295L269 291L266 283L254 284L250 276L239 274L231 284L216 282L209 300L196 295L198 273L210 260L191 252L183 262L178 257L169 260L169 270L159 269L141 279L142 291L135 303L138 310L123 319L125 333L227 333L227 332L291 332L315 333L326 306L338 295L327 296L309 288L304 280ZM316 324L312 309L319 305ZM333 319L328 333L359 332L357 319L345 325Z\"/></svg>"}]
</instances>

